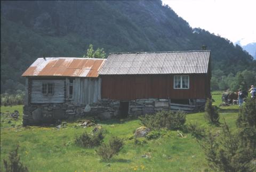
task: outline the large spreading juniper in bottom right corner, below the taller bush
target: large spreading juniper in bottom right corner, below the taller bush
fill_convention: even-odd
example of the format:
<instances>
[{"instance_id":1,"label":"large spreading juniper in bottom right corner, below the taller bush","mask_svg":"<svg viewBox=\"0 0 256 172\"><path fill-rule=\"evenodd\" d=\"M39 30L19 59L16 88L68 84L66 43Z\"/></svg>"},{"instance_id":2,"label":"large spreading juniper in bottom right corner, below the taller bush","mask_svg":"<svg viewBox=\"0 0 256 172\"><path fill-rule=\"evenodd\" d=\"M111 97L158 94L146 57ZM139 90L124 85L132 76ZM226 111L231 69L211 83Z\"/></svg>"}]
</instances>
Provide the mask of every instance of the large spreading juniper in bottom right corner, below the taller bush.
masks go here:
<instances>
[{"instance_id":1,"label":"large spreading juniper in bottom right corner, below the taller bush","mask_svg":"<svg viewBox=\"0 0 256 172\"><path fill-rule=\"evenodd\" d=\"M256 137L256 130L251 130L254 133L251 137ZM222 126L221 135L214 136L209 133L206 142L201 146L205 152L209 166L214 171L255 171L253 161L256 158L255 154L255 139L254 143L248 142L249 137L241 137L241 131L231 133L228 125Z\"/></svg>"}]
</instances>

